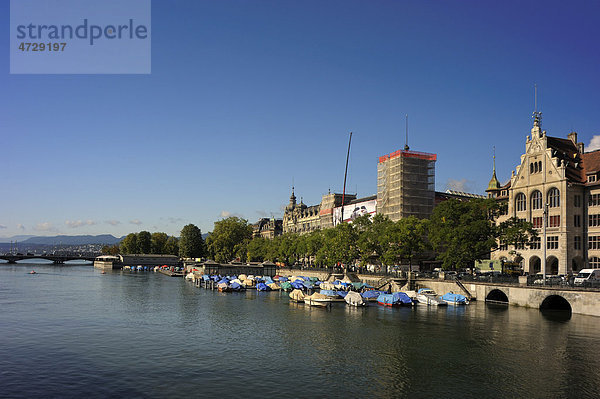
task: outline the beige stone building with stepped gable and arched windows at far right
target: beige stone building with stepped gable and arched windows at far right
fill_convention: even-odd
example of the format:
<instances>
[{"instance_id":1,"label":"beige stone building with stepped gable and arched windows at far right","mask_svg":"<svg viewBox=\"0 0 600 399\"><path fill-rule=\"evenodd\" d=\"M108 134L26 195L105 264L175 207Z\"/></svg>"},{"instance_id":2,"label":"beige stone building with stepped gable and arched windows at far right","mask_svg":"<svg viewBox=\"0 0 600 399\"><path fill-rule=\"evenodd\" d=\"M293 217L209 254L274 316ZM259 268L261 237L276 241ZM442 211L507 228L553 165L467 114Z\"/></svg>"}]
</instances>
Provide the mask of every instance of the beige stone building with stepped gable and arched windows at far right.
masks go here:
<instances>
[{"instance_id":1,"label":"beige stone building with stepped gable and arched windows at far right","mask_svg":"<svg viewBox=\"0 0 600 399\"><path fill-rule=\"evenodd\" d=\"M539 238L531 248L508 248L500 243L492 259L516 258L525 272L538 273L545 245L547 274L600 267L600 151L584 153L574 132L566 139L548 136L541 129L541 113L534 113L525 153L504 186L495 169L494 165L486 191L508 209L498 222L510 217L527 220Z\"/></svg>"}]
</instances>

